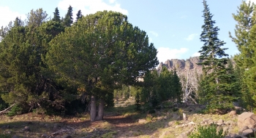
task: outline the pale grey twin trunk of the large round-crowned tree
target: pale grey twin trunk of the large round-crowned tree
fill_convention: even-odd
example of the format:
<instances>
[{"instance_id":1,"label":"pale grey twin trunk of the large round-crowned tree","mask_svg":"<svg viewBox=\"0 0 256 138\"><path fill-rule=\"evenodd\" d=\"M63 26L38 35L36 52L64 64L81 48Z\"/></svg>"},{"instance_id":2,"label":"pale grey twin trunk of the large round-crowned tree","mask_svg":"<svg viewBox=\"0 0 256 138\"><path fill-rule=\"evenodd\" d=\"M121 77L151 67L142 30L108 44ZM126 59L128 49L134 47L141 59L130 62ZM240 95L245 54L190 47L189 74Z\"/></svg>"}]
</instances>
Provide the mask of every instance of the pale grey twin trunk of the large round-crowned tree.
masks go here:
<instances>
[{"instance_id":1,"label":"pale grey twin trunk of the large round-crowned tree","mask_svg":"<svg viewBox=\"0 0 256 138\"><path fill-rule=\"evenodd\" d=\"M104 116L104 106L105 106L105 101L103 98L99 99L99 108L98 108L98 114L97 114L97 106L96 106L96 99L94 96L91 96L91 110L90 110L90 115L91 115L91 121L101 121Z\"/></svg>"}]
</instances>

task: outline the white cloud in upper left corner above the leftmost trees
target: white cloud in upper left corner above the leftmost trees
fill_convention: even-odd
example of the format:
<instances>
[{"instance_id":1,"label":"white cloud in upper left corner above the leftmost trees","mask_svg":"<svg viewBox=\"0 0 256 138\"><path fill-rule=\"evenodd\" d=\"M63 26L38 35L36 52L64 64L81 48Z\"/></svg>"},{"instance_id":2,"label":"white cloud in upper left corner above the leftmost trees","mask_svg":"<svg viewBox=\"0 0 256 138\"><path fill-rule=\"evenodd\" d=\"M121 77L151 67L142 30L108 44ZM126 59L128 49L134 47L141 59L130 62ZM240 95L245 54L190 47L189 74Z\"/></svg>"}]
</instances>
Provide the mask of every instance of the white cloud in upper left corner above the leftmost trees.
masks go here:
<instances>
[{"instance_id":1,"label":"white cloud in upper left corner above the leftmost trees","mask_svg":"<svg viewBox=\"0 0 256 138\"><path fill-rule=\"evenodd\" d=\"M7 26L10 21L14 21L16 17L21 18L21 20L26 19L26 15L22 15L18 12L12 11L9 7L0 7L0 17L0 27Z\"/></svg>"}]
</instances>

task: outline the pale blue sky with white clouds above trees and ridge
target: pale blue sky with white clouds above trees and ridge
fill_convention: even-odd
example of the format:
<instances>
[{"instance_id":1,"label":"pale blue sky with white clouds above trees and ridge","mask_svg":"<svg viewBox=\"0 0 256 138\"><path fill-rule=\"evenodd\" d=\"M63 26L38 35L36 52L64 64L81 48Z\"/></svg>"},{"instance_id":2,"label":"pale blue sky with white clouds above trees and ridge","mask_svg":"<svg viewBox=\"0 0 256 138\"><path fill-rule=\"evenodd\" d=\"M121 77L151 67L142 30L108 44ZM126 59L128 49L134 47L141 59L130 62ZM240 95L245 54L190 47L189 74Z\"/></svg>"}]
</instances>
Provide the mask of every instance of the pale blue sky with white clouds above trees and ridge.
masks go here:
<instances>
[{"instance_id":1,"label":"pale blue sky with white clouds above trees and ridge","mask_svg":"<svg viewBox=\"0 0 256 138\"><path fill-rule=\"evenodd\" d=\"M247 1L247 0L246 0ZM251 0L256 3L256 0ZM0 26L8 25L15 17L26 19L31 9L42 8L53 17L56 7L61 17L67 13L69 5L73 14L81 9L83 15L102 10L113 10L128 16L129 23L146 31L151 43L158 50L159 62L170 59L188 59L198 55L203 42L200 33L203 25L203 0L0 0ZM241 0L208 0L214 15L213 20L219 31L219 39L225 41L227 54L237 54L236 45L229 38L234 35L236 13Z\"/></svg>"}]
</instances>

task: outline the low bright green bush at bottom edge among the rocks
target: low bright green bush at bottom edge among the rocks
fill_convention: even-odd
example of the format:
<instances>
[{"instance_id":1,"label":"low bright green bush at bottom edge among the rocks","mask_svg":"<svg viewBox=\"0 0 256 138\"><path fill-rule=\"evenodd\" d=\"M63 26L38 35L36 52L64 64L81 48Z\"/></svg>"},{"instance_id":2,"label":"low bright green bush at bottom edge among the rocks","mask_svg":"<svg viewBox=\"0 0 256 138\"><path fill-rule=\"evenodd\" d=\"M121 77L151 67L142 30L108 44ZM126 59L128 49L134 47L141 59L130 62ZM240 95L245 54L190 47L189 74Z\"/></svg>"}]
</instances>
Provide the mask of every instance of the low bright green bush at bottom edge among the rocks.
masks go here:
<instances>
[{"instance_id":1,"label":"low bright green bush at bottom edge among the rocks","mask_svg":"<svg viewBox=\"0 0 256 138\"><path fill-rule=\"evenodd\" d=\"M216 124L209 126L198 126L197 131L190 134L189 138L223 138L227 134L227 131L223 131L222 127L218 127Z\"/></svg>"}]
</instances>

